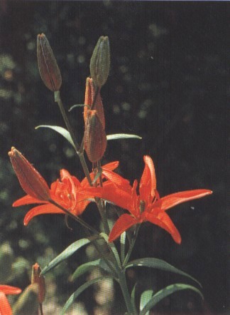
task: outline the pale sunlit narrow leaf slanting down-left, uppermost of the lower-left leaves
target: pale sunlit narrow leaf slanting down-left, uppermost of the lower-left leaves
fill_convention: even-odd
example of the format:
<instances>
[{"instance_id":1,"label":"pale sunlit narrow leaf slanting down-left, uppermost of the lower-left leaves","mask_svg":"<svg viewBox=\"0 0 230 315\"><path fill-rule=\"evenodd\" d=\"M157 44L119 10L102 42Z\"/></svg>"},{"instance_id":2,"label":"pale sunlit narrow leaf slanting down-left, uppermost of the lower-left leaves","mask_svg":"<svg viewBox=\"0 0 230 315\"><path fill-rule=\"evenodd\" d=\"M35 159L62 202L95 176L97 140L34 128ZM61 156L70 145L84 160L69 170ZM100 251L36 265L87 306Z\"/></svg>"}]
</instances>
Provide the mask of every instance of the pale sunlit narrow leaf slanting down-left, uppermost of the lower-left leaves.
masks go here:
<instances>
[{"instance_id":1,"label":"pale sunlit narrow leaf slanting down-left, uppermost of the lower-left leaves","mask_svg":"<svg viewBox=\"0 0 230 315\"><path fill-rule=\"evenodd\" d=\"M46 274L50 271L50 269L53 269L57 266L57 264L60 264L60 262L63 262L63 260L70 257L72 254L77 252L78 249L83 247L86 244L89 244L90 239L79 239L78 241L72 243L69 247L67 247L62 253L60 253L55 259L52 260L45 268L42 270L40 274Z\"/></svg>"}]
</instances>

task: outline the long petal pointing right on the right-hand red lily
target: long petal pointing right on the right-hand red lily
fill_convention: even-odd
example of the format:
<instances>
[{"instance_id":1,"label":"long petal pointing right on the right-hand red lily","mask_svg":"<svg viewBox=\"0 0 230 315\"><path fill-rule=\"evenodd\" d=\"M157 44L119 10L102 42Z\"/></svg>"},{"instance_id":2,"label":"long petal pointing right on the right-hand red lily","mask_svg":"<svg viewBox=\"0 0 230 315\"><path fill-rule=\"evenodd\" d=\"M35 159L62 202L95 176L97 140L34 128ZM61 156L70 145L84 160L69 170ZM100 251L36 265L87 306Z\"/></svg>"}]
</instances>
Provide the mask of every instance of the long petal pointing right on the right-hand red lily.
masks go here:
<instances>
[{"instance_id":1,"label":"long petal pointing right on the right-hand red lily","mask_svg":"<svg viewBox=\"0 0 230 315\"><path fill-rule=\"evenodd\" d=\"M185 192L175 192L174 194L160 198L160 207L162 210L168 210L182 202L202 198L210 194L212 194L212 190L186 190ZM157 205L157 202L155 205Z\"/></svg>"}]
</instances>

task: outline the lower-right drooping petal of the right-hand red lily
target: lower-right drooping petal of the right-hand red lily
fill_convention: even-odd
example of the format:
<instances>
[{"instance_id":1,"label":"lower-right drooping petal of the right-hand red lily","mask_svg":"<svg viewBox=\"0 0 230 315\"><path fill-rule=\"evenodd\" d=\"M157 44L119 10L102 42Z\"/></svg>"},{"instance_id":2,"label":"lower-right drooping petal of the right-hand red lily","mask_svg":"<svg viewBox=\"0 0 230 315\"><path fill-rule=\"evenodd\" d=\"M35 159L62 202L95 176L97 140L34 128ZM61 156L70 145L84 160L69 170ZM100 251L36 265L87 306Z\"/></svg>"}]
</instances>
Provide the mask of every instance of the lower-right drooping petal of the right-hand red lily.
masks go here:
<instances>
[{"instance_id":1,"label":"lower-right drooping petal of the right-hand red lily","mask_svg":"<svg viewBox=\"0 0 230 315\"><path fill-rule=\"evenodd\" d=\"M175 225L173 224L172 220L170 219L166 212L161 211L160 213L158 213L157 217L155 217L155 215L153 215L152 213L148 212L143 212L143 215L149 222L158 225L159 227L162 227L167 232L169 232L177 244L181 243L180 233L178 232L177 228L175 227Z\"/></svg>"}]
</instances>

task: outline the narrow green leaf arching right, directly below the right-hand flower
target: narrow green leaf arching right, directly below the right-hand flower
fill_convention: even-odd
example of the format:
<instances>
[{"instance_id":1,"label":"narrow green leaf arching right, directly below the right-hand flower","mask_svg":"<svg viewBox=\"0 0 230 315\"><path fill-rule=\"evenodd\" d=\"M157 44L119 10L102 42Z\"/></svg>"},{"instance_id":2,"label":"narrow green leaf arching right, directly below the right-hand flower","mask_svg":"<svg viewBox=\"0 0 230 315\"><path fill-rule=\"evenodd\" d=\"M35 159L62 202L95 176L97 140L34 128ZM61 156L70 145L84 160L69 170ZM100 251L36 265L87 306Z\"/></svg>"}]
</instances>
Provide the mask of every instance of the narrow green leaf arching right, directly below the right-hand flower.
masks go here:
<instances>
[{"instance_id":1,"label":"narrow green leaf arching right, directly below the right-hand flower","mask_svg":"<svg viewBox=\"0 0 230 315\"><path fill-rule=\"evenodd\" d=\"M186 272L182 272L182 270L173 267L171 264L168 264L168 262L164 262L161 259L157 259L157 258L136 259L136 260L133 260L133 262L129 262L125 268L130 268L130 267L150 267L150 268L164 270L165 272L174 272L175 274L181 274L182 276L192 279L193 281L197 282L199 286L202 287L202 285L195 278L190 276L190 274L187 274Z\"/></svg>"}]
</instances>

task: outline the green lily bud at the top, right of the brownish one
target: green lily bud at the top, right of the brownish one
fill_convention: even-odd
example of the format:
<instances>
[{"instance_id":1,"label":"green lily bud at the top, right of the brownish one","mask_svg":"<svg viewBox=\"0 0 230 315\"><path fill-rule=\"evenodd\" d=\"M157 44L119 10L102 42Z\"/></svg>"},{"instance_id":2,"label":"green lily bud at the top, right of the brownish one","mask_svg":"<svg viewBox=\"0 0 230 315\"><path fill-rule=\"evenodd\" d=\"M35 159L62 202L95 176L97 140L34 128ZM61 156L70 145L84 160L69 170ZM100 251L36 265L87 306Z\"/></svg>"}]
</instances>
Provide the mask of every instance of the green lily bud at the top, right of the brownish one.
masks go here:
<instances>
[{"instance_id":1,"label":"green lily bud at the top, right of the brownish one","mask_svg":"<svg viewBox=\"0 0 230 315\"><path fill-rule=\"evenodd\" d=\"M90 75L96 86L101 88L106 83L110 68L110 48L108 36L101 36L94 48L90 60Z\"/></svg>"}]
</instances>

